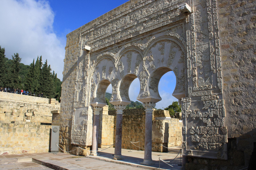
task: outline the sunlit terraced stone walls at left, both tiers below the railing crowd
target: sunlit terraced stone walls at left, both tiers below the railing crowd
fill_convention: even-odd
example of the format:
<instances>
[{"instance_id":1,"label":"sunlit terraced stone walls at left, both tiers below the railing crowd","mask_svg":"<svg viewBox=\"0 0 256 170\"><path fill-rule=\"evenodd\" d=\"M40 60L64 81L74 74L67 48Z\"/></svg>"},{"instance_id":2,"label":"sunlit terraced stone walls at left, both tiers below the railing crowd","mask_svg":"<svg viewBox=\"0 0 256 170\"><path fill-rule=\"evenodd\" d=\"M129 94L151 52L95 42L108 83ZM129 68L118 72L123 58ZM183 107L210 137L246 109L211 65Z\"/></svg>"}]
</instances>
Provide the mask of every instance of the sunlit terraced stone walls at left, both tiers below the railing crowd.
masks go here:
<instances>
[{"instance_id":1,"label":"sunlit terraced stone walls at left, both tiers below the railing crowd","mask_svg":"<svg viewBox=\"0 0 256 170\"><path fill-rule=\"evenodd\" d=\"M49 151L55 99L0 92L0 154Z\"/></svg>"}]
</instances>

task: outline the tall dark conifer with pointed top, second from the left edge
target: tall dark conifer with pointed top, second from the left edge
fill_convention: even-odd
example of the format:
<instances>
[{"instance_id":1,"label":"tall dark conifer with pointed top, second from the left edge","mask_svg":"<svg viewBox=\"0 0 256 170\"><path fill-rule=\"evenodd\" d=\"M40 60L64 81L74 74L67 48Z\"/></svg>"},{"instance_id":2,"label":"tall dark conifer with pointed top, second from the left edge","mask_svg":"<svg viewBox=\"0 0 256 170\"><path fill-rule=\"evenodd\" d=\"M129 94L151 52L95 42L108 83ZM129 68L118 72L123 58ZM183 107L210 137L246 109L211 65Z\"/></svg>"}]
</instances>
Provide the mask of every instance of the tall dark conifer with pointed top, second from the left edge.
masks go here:
<instances>
[{"instance_id":1,"label":"tall dark conifer with pointed top, second from the left edge","mask_svg":"<svg viewBox=\"0 0 256 170\"><path fill-rule=\"evenodd\" d=\"M20 71L21 58L18 53L12 55L12 87L18 87L20 85L19 71Z\"/></svg>"}]
</instances>

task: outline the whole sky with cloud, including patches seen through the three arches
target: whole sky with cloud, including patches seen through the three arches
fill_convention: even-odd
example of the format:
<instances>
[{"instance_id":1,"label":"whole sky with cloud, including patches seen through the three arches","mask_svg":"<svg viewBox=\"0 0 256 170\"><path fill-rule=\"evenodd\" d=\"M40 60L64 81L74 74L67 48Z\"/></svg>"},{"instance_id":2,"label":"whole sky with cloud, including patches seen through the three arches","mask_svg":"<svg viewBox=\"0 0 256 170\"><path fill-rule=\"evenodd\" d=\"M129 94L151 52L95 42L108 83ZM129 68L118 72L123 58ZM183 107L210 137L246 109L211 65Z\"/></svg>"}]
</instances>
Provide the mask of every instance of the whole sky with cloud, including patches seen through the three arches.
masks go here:
<instances>
[{"instance_id":1,"label":"whole sky with cloud, including patches seen through the three arches","mask_svg":"<svg viewBox=\"0 0 256 170\"><path fill-rule=\"evenodd\" d=\"M22 63L29 65L33 58L42 55L52 70L62 80L65 58L66 35L128 0L1 0L0 5L0 45L5 47L7 58L16 52ZM177 101L171 94L176 78L174 73L166 73L159 83L162 101L157 109L167 107ZM129 89L129 97L136 101L139 80L134 80ZM111 93L111 87L107 92Z\"/></svg>"}]
</instances>

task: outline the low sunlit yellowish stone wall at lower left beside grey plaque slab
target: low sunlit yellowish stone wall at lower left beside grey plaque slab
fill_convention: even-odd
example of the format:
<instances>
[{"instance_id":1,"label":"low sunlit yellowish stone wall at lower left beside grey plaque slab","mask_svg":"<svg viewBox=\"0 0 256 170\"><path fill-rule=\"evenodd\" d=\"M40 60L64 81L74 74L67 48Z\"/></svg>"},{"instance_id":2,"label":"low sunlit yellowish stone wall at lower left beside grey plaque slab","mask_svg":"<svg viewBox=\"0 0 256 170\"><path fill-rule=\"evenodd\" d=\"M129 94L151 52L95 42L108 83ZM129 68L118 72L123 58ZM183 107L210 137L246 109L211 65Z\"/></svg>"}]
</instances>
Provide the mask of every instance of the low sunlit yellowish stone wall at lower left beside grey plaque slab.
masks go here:
<instances>
[{"instance_id":1,"label":"low sunlit yellowish stone wall at lower left beside grey plaque slab","mask_svg":"<svg viewBox=\"0 0 256 170\"><path fill-rule=\"evenodd\" d=\"M29 122L0 123L0 154L48 152L50 128Z\"/></svg>"}]
</instances>

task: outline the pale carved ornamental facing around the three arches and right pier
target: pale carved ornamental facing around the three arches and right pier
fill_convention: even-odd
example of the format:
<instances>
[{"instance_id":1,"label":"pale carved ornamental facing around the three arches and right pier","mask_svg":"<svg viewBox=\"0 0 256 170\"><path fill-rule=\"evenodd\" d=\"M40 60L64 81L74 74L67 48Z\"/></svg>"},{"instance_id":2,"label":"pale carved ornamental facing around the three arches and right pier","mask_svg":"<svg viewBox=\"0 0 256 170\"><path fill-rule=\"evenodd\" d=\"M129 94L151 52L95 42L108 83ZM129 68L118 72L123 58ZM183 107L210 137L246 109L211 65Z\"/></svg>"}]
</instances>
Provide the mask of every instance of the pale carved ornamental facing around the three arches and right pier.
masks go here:
<instances>
[{"instance_id":1,"label":"pale carved ornamental facing around the three arches and right pier","mask_svg":"<svg viewBox=\"0 0 256 170\"><path fill-rule=\"evenodd\" d=\"M185 3L191 7L186 15ZM173 96L182 99L183 154L227 159L218 35L215 0L140 1L88 25L79 35L74 107L103 101L103 80L112 84L113 102L129 101L129 74L140 79L137 99L156 103L158 82L172 70Z\"/></svg>"}]
</instances>

